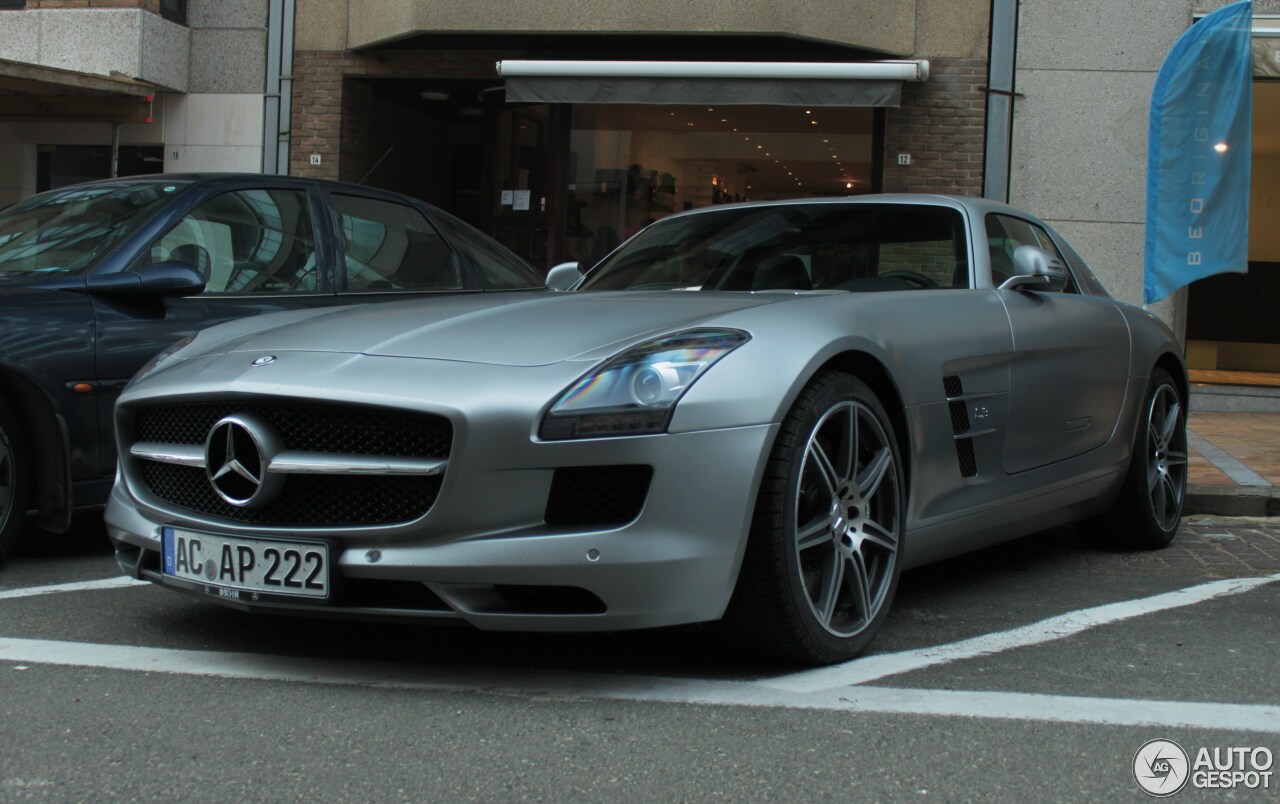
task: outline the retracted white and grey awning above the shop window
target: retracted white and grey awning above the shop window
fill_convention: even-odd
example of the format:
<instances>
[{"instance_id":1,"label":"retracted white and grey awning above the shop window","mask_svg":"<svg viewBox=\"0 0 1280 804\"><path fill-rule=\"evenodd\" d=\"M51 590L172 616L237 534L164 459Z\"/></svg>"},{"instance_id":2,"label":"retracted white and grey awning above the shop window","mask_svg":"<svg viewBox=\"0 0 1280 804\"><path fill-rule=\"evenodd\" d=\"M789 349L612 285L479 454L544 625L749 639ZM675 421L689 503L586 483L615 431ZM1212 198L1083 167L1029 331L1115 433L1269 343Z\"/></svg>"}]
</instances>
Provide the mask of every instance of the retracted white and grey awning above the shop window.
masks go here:
<instances>
[{"instance_id":1,"label":"retracted white and grey awning above the shop window","mask_svg":"<svg viewBox=\"0 0 1280 804\"><path fill-rule=\"evenodd\" d=\"M897 106L929 63L504 60L498 74L508 102Z\"/></svg>"}]
</instances>

